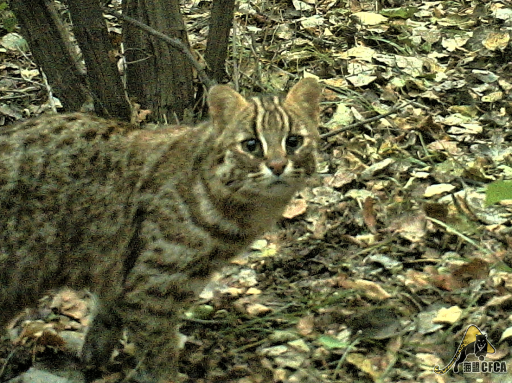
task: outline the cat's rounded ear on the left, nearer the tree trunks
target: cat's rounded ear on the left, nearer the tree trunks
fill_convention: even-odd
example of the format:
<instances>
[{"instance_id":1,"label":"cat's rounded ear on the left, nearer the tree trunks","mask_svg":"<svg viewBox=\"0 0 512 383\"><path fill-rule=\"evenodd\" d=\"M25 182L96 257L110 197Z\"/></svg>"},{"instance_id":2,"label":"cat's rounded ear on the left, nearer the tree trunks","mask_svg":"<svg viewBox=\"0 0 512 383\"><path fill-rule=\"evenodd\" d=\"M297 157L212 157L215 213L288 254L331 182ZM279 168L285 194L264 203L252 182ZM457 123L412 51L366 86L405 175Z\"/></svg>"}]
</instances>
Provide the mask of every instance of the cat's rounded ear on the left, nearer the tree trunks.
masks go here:
<instances>
[{"instance_id":1,"label":"cat's rounded ear on the left, nearer the tree trunks","mask_svg":"<svg viewBox=\"0 0 512 383\"><path fill-rule=\"evenodd\" d=\"M227 85L214 85L208 92L208 107L214 123L223 126L248 102L243 96Z\"/></svg>"}]
</instances>

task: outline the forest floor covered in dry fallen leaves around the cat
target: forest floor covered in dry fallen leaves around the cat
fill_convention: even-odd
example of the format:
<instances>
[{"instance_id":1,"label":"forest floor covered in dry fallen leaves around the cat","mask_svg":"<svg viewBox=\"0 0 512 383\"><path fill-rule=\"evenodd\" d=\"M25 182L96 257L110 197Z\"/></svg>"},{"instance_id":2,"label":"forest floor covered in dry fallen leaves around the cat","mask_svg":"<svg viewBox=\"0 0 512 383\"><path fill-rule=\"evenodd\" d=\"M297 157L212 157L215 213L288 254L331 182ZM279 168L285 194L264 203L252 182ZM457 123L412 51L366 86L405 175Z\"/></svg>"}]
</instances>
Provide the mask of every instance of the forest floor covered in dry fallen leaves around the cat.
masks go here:
<instances>
[{"instance_id":1,"label":"forest floor covered in dry fallen leaves around the cat","mask_svg":"<svg viewBox=\"0 0 512 383\"><path fill-rule=\"evenodd\" d=\"M199 52L208 4L183 9ZM186 313L190 381L512 382L511 31L509 0L241 2L242 89L325 85L319 177ZM2 49L0 118L37 113L29 54ZM27 341L26 365L62 339Z\"/></svg>"}]
</instances>

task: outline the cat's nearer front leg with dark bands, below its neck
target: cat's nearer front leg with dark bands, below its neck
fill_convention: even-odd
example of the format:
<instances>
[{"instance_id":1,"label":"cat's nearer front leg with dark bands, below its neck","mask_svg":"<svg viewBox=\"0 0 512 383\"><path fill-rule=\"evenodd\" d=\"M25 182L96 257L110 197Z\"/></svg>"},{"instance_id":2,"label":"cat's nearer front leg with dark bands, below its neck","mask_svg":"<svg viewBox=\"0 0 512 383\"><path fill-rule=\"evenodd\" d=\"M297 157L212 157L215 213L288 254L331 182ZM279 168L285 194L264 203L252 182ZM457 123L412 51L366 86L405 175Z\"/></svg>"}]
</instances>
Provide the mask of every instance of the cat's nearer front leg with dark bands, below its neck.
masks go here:
<instances>
[{"instance_id":1,"label":"cat's nearer front leg with dark bands, below its neck","mask_svg":"<svg viewBox=\"0 0 512 383\"><path fill-rule=\"evenodd\" d=\"M153 203L154 216L142 224L141 249L117 307L152 383L175 383L181 313L207 283L212 265L221 263L214 262L217 252L209 233L179 220L178 208L168 211L171 200Z\"/></svg>"}]
</instances>

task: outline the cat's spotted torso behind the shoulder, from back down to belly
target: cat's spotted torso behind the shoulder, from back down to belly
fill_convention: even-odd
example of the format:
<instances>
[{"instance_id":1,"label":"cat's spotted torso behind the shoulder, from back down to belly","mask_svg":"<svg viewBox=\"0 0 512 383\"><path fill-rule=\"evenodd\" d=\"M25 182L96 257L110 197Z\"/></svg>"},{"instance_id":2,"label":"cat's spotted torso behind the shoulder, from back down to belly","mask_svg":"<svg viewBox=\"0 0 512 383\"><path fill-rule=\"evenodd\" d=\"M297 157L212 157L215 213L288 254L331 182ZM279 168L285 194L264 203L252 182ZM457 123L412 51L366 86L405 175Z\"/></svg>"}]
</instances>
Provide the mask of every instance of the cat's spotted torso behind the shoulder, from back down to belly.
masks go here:
<instances>
[{"instance_id":1,"label":"cat's spotted torso behind the shoulder, from back down to belly","mask_svg":"<svg viewBox=\"0 0 512 383\"><path fill-rule=\"evenodd\" d=\"M110 278L122 279L133 232L129 201L144 166L130 137L140 131L84 114L0 130L3 309L31 303L63 281L111 288Z\"/></svg>"}]
</instances>

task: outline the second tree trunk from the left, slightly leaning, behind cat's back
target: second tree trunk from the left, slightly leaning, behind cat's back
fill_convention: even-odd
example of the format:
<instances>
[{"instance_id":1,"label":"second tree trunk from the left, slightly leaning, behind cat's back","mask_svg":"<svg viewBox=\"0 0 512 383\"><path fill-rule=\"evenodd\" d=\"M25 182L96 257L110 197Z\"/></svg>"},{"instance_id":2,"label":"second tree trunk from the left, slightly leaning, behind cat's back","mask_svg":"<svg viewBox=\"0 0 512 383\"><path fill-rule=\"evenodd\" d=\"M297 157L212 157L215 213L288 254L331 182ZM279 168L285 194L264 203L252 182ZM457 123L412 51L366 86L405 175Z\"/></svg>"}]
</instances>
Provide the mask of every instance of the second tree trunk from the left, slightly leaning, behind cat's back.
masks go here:
<instances>
[{"instance_id":1,"label":"second tree trunk from the left, slightly leaning, behind cat's back","mask_svg":"<svg viewBox=\"0 0 512 383\"><path fill-rule=\"evenodd\" d=\"M87 67L96 114L130 121L131 110L97 0L72 0L73 32Z\"/></svg>"}]
</instances>

